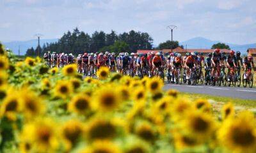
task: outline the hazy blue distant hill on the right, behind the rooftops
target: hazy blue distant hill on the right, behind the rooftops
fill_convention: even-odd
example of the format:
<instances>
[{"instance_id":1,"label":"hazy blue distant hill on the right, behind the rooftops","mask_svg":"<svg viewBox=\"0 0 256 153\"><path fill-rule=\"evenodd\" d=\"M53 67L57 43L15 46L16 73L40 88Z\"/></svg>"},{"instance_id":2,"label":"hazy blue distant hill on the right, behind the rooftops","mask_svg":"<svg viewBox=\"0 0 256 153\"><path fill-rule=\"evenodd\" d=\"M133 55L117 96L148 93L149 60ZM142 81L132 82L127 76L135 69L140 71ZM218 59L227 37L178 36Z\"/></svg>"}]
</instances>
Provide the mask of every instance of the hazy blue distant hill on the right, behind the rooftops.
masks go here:
<instances>
[{"instance_id":1,"label":"hazy blue distant hill on the right, behind the rooftops","mask_svg":"<svg viewBox=\"0 0 256 153\"><path fill-rule=\"evenodd\" d=\"M214 45L215 43L223 43L223 42L212 41L212 40L208 40L203 37L196 37L196 38L192 38L190 40L181 42L180 45L183 45L184 47L186 47L186 45L187 45L187 48L200 49L200 48L211 48L212 45ZM229 47L232 50L236 50L236 51L239 50L242 54L246 54L246 51L248 48L256 48L256 43L246 44L246 45L236 45L236 44L232 44L232 43L225 43L225 44L229 45Z\"/></svg>"}]
</instances>

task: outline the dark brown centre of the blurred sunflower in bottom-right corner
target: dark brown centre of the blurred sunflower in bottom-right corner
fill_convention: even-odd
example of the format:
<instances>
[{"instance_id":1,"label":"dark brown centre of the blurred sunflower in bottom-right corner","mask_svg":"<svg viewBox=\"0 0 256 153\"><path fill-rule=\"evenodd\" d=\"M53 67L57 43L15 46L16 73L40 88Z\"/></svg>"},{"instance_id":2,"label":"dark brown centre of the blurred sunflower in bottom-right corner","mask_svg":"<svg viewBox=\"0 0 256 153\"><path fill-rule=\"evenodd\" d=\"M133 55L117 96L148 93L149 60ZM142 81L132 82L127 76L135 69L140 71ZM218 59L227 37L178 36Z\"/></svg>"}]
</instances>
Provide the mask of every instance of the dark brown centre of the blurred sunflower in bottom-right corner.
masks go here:
<instances>
[{"instance_id":1,"label":"dark brown centre of the blurred sunflower in bottom-right corner","mask_svg":"<svg viewBox=\"0 0 256 153\"><path fill-rule=\"evenodd\" d=\"M252 131L250 130L241 130L239 128L236 128L234 132L232 133L233 141L237 145L243 145L248 146L255 143L255 136L253 136Z\"/></svg>"}]
</instances>

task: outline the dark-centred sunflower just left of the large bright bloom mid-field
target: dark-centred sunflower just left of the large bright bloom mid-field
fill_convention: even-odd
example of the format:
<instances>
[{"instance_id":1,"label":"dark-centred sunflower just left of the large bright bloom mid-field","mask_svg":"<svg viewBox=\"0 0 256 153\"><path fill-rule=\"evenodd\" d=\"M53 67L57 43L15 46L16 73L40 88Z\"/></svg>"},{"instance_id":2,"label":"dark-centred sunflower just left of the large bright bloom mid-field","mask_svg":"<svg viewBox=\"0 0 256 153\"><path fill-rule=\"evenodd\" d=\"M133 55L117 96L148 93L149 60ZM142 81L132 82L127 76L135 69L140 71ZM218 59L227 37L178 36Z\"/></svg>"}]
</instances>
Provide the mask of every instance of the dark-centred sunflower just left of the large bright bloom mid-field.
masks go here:
<instances>
[{"instance_id":1,"label":"dark-centred sunflower just left of the large bright bloom mid-field","mask_svg":"<svg viewBox=\"0 0 256 153\"><path fill-rule=\"evenodd\" d=\"M79 114L84 114L88 112L91 108L90 97L83 94L78 94L74 96L70 103L68 103L68 110L70 112L76 112Z\"/></svg>"}]
</instances>

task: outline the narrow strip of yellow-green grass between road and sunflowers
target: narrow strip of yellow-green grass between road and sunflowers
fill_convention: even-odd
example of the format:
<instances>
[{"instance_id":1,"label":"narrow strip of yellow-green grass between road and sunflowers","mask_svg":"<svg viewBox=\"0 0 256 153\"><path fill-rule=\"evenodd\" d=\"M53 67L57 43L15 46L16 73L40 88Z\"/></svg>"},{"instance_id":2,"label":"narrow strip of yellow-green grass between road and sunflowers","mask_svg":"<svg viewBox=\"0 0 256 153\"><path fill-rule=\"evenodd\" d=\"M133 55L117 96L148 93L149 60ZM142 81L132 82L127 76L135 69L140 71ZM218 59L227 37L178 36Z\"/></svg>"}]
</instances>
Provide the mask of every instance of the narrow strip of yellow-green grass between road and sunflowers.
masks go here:
<instances>
[{"instance_id":1,"label":"narrow strip of yellow-green grass between road and sunflowers","mask_svg":"<svg viewBox=\"0 0 256 153\"><path fill-rule=\"evenodd\" d=\"M209 94L194 94L188 92L180 92L180 96L186 96L189 99L212 99L216 101L216 103L228 103L231 102L234 106L242 108L242 109L253 109L256 110L256 99L239 99L239 98L228 98L221 96L211 96Z\"/></svg>"}]
</instances>

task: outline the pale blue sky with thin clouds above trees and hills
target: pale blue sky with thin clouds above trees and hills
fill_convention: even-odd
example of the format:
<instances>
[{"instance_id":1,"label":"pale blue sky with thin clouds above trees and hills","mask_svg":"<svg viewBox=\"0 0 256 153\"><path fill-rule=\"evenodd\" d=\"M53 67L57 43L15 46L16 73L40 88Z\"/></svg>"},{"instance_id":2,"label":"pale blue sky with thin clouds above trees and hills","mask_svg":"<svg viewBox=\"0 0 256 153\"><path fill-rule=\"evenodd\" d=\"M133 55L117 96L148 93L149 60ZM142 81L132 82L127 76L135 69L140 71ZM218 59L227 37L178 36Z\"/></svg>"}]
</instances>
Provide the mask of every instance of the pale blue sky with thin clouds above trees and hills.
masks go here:
<instances>
[{"instance_id":1,"label":"pale blue sky with thin clouds above trees and hills","mask_svg":"<svg viewBox=\"0 0 256 153\"><path fill-rule=\"evenodd\" d=\"M255 0L0 0L0 41L60 38L75 27L147 32L154 44L202 36L228 43L256 43Z\"/></svg>"}]
</instances>

